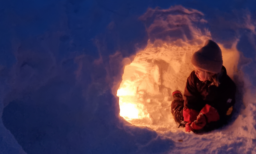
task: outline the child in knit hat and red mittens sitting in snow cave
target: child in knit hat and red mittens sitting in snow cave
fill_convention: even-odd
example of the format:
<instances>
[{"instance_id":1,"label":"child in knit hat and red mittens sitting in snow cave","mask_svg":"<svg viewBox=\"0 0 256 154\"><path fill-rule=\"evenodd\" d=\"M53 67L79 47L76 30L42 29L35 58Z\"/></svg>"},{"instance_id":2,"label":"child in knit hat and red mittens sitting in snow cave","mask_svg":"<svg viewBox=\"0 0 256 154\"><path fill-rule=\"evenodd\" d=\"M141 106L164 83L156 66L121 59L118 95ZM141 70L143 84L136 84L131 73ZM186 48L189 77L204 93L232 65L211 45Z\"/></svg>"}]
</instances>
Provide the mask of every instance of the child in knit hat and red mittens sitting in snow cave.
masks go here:
<instances>
[{"instance_id":1,"label":"child in knit hat and red mittens sitting in snow cave","mask_svg":"<svg viewBox=\"0 0 256 154\"><path fill-rule=\"evenodd\" d=\"M195 70L187 78L185 99L180 91L173 92L172 114L187 132L209 131L229 119L235 103L236 86L222 64L221 49L214 41L208 40L192 56Z\"/></svg>"}]
</instances>

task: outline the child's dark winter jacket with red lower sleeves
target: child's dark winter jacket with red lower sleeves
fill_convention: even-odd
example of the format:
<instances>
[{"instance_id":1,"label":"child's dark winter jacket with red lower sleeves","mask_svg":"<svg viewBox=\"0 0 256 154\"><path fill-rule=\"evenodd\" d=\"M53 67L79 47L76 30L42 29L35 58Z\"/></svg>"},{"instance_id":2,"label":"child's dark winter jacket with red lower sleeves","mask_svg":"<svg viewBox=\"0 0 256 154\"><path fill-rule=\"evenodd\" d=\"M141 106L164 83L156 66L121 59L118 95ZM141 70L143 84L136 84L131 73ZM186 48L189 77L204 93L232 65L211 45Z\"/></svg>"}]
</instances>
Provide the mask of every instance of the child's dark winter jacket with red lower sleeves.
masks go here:
<instances>
[{"instance_id":1,"label":"child's dark winter jacket with red lower sleeves","mask_svg":"<svg viewBox=\"0 0 256 154\"><path fill-rule=\"evenodd\" d=\"M230 117L232 106L235 104L235 83L227 75L222 66L220 85L211 85L210 81L200 81L193 71L187 79L184 92L184 120L193 122L199 112L208 119L207 127L220 127ZM206 105L208 104L208 105Z\"/></svg>"}]
</instances>

